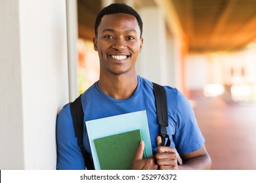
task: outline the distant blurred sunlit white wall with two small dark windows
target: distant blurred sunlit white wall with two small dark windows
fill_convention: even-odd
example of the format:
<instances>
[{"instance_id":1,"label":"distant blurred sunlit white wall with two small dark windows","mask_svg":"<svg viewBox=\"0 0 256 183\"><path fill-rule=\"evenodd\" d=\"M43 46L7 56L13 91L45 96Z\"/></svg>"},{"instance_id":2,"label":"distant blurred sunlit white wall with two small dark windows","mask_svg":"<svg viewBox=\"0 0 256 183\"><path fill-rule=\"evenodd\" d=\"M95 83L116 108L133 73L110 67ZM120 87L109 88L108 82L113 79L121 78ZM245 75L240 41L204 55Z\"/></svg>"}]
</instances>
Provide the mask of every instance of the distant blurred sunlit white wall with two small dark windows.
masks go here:
<instances>
[{"instance_id":1,"label":"distant blurred sunlit white wall with two small dark windows","mask_svg":"<svg viewBox=\"0 0 256 183\"><path fill-rule=\"evenodd\" d=\"M187 81L190 90L205 84L255 84L256 49L223 54L192 54L187 57ZM242 75L244 69L244 75ZM233 73L233 74L232 74Z\"/></svg>"}]
</instances>

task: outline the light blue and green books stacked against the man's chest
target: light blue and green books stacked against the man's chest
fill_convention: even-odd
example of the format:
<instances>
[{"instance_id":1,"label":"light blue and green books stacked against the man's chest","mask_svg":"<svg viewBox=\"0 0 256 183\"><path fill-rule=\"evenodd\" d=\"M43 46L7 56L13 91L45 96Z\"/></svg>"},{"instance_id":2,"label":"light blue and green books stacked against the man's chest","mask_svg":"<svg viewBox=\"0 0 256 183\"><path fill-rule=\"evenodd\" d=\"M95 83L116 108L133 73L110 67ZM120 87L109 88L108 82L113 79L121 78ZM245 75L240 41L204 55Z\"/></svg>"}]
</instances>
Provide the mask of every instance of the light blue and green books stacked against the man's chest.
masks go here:
<instances>
[{"instance_id":1,"label":"light blue and green books stacked against the man's chest","mask_svg":"<svg viewBox=\"0 0 256 183\"><path fill-rule=\"evenodd\" d=\"M152 156L146 110L85 122L96 170L131 169L140 141Z\"/></svg>"}]
</instances>

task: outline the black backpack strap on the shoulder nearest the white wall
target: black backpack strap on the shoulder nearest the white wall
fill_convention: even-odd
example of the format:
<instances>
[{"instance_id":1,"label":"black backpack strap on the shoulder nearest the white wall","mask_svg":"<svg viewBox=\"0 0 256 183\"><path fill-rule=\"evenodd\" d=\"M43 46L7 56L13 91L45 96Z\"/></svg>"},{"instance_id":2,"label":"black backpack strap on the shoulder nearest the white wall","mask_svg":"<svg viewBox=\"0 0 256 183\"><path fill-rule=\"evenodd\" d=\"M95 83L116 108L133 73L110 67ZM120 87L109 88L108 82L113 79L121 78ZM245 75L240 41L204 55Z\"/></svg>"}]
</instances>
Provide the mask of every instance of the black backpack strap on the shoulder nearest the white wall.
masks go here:
<instances>
[{"instance_id":1,"label":"black backpack strap on the shoulder nearest the white wall","mask_svg":"<svg viewBox=\"0 0 256 183\"><path fill-rule=\"evenodd\" d=\"M93 170L93 161L90 158L90 154L85 150L83 145L83 107L81 104L81 95L75 99L74 102L70 103L70 112L72 115L75 137L77 137L77 144L81 148L83 158L85 159L86 167L89 170Z\"/></svg>"}]
</instances>

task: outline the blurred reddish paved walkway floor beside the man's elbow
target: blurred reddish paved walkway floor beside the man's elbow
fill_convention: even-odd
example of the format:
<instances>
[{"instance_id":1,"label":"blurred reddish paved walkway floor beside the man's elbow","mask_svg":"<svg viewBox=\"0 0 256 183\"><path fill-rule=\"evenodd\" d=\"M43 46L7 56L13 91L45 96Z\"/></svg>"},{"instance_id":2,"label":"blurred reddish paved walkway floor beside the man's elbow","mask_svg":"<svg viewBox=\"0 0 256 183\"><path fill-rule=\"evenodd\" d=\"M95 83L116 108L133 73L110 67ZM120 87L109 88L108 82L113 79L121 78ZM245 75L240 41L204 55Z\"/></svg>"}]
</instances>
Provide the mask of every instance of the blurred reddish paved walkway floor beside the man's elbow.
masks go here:
<instances>
[{"instance_id":1,"label":"blurred reddish paved walkway floor beside the man's elbow","mask_svg":"<svg viewBox=\"0 0 256 183\"><path fill-rule=\"evenodd\" d=\"M194 111L212 169L256 169L256 105L194 97Z\"/></svg>"}]
</instances>

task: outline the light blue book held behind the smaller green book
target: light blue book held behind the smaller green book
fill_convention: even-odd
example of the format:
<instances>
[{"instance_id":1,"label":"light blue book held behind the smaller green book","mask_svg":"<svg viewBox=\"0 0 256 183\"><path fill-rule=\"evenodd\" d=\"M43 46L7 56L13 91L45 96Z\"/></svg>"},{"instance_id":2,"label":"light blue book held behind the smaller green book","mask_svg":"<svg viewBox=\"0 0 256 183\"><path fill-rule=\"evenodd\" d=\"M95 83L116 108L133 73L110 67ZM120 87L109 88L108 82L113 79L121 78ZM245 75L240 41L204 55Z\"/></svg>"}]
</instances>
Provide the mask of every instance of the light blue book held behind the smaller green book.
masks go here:
<instances>
[{"instance_id":1,"label":"light blue book held behind the smaller green book","mask_svg":"<svg viewBox=\"0 0 256 183\"><path fill-rule=\"evenodd\" d=\"M87 127L89 143L91 146L93 162L95 164L96 170L100 170L101 168L95 148L95 140L102 137L108 137L111 135L117 135L120 133L135 131L139 129L145 144L145 156L146 158L152 156L152 147L150 142L146 110L90 120L85 122L85 125ZM139 144L137 144L137 146L139 146Z\"/></svg>"}]
</instances>

